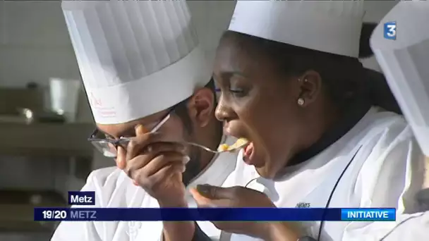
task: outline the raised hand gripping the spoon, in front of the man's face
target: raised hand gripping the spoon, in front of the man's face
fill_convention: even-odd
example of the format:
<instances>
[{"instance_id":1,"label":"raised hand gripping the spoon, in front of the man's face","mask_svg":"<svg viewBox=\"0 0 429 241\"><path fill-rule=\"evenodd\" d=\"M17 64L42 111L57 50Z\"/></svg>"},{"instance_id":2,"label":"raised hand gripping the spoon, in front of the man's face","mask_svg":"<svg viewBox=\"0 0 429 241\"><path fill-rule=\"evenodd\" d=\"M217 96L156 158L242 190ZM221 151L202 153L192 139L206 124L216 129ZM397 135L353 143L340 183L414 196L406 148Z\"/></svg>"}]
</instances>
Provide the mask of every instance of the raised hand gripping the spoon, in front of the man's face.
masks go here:
<instances>
[{"instance_id":1,"label":"raised hand gripping the spoon, in front of the man's face","mask_svg":"<svg viewBox=\"0 0 429 241\"><path fill-rule=\"evenodd\" d=\"M186 149L178 143L162 142L159 133L145 133L141 125L135 134L126 151L118 149L119 168L157 199L160 206L187 206L182 182L189 161Z\"/></svg>"}]
</instances>

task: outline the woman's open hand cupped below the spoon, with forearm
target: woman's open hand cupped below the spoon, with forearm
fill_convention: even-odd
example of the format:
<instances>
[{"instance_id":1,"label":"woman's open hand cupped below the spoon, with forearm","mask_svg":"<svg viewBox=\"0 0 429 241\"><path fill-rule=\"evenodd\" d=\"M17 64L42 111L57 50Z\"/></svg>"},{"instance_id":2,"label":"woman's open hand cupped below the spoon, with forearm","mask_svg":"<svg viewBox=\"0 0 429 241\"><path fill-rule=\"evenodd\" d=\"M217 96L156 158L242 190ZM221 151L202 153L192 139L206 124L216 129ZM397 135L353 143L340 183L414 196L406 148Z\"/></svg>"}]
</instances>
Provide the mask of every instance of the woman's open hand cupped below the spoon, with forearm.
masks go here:
<instances>
[{"instance_id":1,"label":"woman's open hand cupped below the spoon, with forearm","mask_svg":"<svg viewBox=\"0 0 429 241\"><path fill-rule=\"evenodd\" d=\"M272 207L276 206L267 195L246 187L214 187L198 185L191 190L200 207ZM220 230L259 237L263 240L298 240L298 233L285 223L278 222L212 222Z\"/></svg>"}]
</instances>

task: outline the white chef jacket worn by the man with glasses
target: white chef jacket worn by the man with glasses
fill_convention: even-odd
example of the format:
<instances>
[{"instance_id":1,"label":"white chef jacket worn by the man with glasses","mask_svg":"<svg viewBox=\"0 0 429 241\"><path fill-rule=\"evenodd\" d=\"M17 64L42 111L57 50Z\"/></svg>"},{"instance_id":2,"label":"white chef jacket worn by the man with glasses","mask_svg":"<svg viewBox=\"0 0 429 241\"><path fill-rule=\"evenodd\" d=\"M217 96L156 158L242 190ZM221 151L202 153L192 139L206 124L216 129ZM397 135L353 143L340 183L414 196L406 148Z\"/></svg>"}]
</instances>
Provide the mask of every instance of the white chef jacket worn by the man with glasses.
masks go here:
<instances>
[{"instance_id":1,"label":"white chef jacket worn by the man with glasses","mask_svg":"<svg viewBox=\"0 0 429 241\"><path fill-rule=\"evenodd\" d=\"M236 139L226 138L227 144L233 144ZM234 171L237 154L219 154L187 187L198 184L222 185L226 177ZM133 185L132 180L119 168L102 168L90 173L82 191L95 192L97 207L133 207L157 208L159 204L141 187ZM187 192L186 199L189 207L196 207L191 194ZM83 206L75 206L83 207ZM210 222L197 222L213 240L219 240L220 230ZM61 222L51 241L151 241L162 237L162 221L111 221L111 222Z\"/></svg>"}]
</instances>

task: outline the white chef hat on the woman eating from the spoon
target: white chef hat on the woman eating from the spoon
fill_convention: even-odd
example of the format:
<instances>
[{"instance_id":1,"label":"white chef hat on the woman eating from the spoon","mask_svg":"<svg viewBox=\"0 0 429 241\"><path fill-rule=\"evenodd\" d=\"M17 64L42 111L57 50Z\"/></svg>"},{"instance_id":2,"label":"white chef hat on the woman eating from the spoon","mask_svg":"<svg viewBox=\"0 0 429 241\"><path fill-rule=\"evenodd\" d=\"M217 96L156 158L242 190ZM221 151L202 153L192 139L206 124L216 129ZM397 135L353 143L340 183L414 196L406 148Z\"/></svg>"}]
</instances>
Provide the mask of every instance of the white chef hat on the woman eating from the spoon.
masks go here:
<instances>
[{"instance_id":1,"label":"white chef hat on the woman eating from the spoon","mask_svg":"<svg viewBox=\"0 0 429 241\"><path fill-rule=\"evenodd\" d=\"M229 30L358 58L363 1L237 1Z\"/></svg>"}]
</instances>

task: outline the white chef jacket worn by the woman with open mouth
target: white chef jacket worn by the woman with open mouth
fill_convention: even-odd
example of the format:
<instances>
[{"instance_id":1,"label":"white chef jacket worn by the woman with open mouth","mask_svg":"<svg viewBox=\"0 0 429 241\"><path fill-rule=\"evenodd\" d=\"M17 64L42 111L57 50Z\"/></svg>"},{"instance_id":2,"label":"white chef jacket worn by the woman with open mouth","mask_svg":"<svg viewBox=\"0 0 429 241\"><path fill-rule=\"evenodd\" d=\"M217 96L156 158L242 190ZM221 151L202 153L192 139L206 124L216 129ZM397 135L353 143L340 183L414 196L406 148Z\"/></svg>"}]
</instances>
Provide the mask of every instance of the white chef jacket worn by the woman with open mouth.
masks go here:
<instances>
[{"instance_id":1,"label":"white chef jacket worn by the woman with open mouth","mask_svg":"<svg viewBox=\"0 0 429 241\"><path fill-rule=\"evenodd\" d=\"M424 156L404 119L372 107L337 142L293 166L277 180L261 178L238 154L236 169L224 187L247 186L264 192L278 207L395 207L397 214L416 212L415 194L421 190ZM356 156L355 156L356 155ZM420 161L421 160L421 161ZM346 166L349 164L349 167ZM320 222L303 223L317 238ZM380 240L396 222L324 222L321 241ZM429 233L428 233L429 234ZM222 240L258 240L246 235L222 235Z\"/></svg>"}]
</instances>

